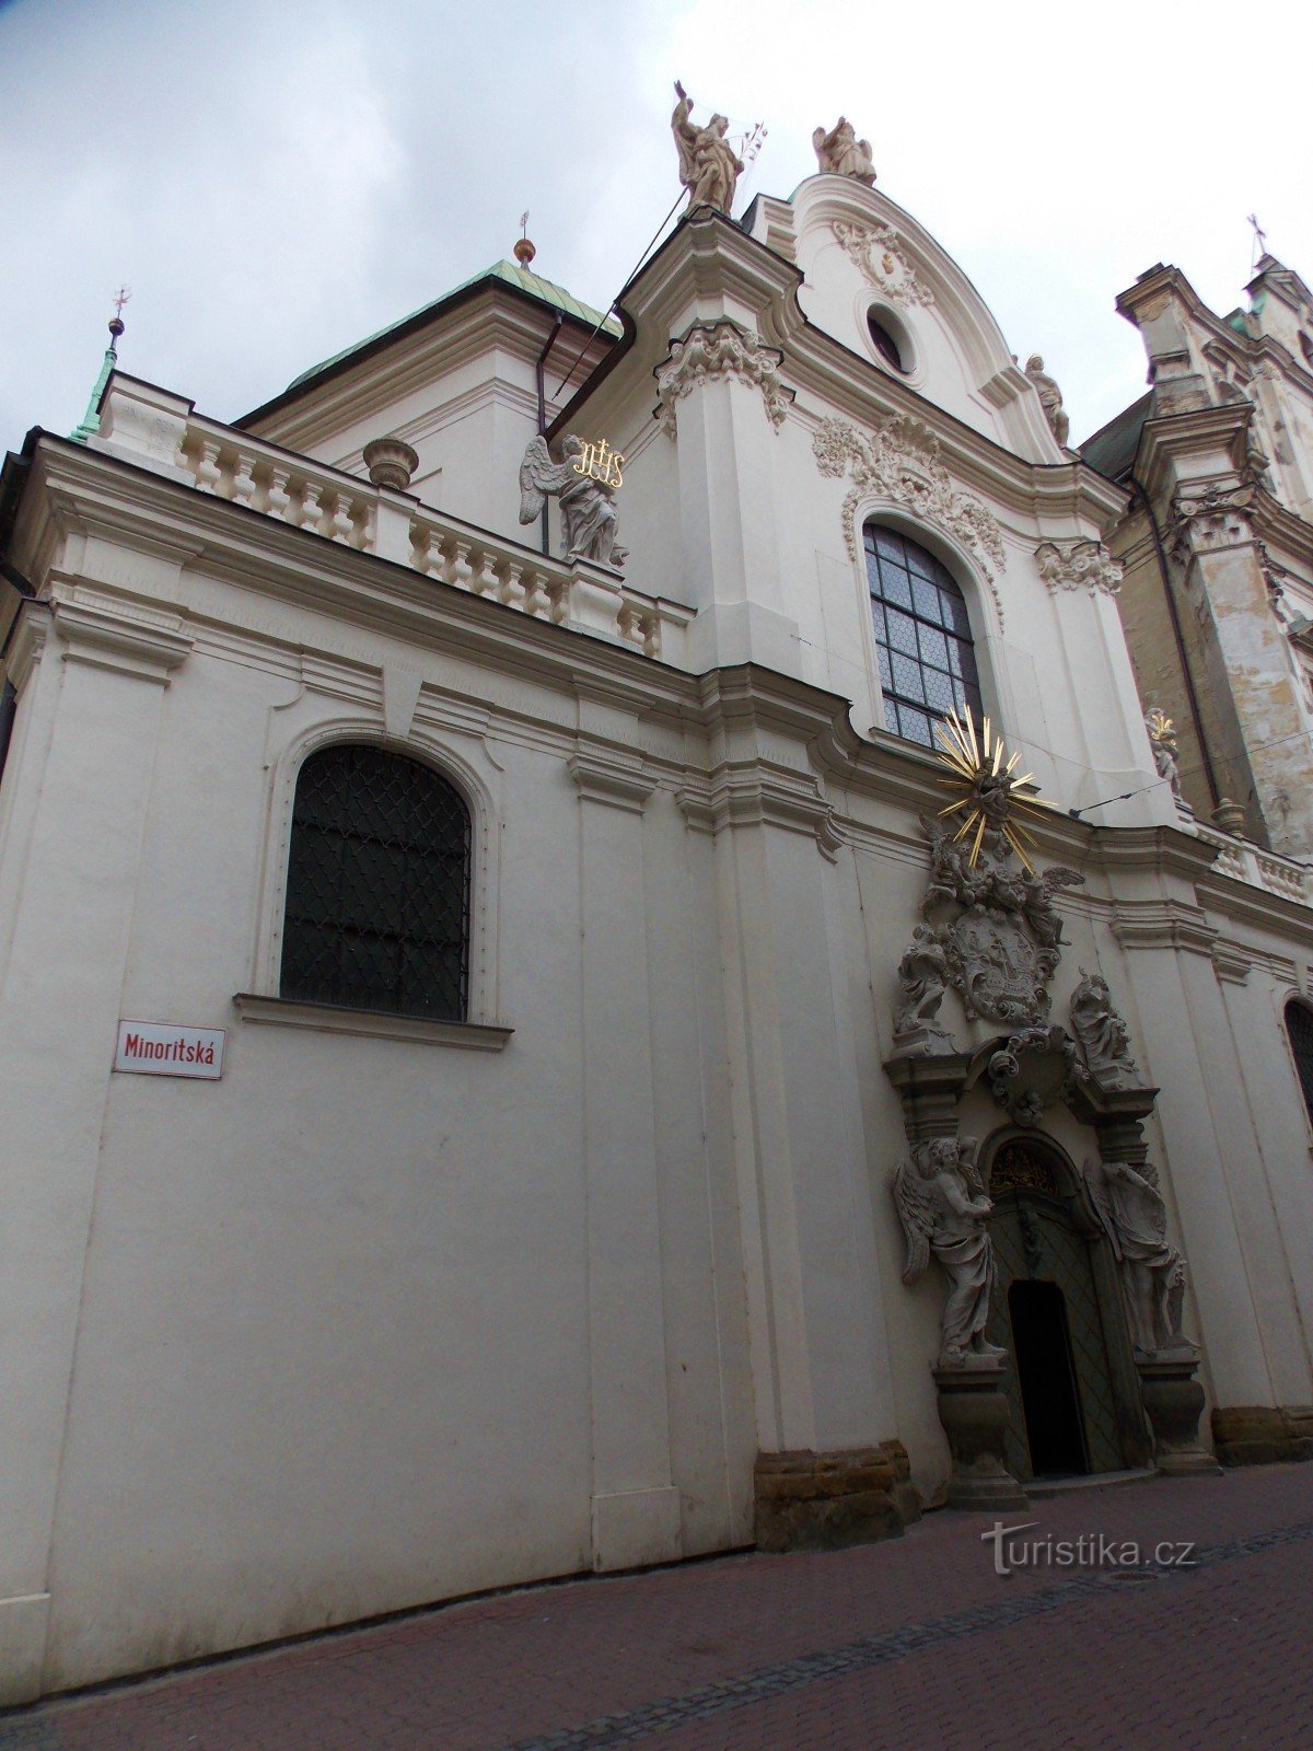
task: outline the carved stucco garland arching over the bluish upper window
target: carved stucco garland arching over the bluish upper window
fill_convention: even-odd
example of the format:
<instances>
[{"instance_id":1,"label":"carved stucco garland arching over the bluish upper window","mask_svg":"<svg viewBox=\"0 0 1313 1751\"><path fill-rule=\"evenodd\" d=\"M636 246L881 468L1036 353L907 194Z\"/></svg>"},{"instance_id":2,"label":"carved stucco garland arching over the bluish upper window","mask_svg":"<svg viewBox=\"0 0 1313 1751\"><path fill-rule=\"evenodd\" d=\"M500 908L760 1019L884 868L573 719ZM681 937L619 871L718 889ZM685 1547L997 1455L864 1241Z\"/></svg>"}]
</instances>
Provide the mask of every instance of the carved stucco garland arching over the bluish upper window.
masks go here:
<instances>
[{"instance_id":1,"label":"carved stucco garland arching over the bluish upper window","mask_svg":"<svg viewBox=\"0 0 1313 1751\"><path fill-rule=\"evenodd\" d=\"M979 499L952 485L938 438L917 420L896 413L863 438L846 420L825 418L812 438L812 454L823 475L853 478L853 490L844 499L844 543L851 559L858 557L858 504L863 496L879 492L972 548L993 588L991 566L1003 569L1003 531ZM998 590L994 602L1001 625Z\"/></svg>"}]
</instances>

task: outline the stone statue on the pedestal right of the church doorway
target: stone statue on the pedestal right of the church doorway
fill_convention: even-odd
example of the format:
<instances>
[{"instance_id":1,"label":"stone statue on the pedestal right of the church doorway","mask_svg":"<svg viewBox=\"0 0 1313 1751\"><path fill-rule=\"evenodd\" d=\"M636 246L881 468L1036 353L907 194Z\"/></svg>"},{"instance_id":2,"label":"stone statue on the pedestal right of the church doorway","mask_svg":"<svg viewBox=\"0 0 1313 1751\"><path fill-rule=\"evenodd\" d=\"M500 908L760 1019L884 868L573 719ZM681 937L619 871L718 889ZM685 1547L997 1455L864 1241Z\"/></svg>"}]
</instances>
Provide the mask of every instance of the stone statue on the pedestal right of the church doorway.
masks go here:
<instances>
[{"instance_id":1,"label":"stone statue on the pedestal right of the church doorway","mask_svg":"<svg viewBox=\"0 0 1313 1751\"><path fill-rule=\"evenodd\" d=\"M1087 1161L1089 1201L1112 1241L1131 1315L1131 1338L1141 1355L1190 1348L1182 1334L1185 1259L1168 1240L1168 1210L1157 1171L1141 1163Z\"/></svg>"}]
</instances>

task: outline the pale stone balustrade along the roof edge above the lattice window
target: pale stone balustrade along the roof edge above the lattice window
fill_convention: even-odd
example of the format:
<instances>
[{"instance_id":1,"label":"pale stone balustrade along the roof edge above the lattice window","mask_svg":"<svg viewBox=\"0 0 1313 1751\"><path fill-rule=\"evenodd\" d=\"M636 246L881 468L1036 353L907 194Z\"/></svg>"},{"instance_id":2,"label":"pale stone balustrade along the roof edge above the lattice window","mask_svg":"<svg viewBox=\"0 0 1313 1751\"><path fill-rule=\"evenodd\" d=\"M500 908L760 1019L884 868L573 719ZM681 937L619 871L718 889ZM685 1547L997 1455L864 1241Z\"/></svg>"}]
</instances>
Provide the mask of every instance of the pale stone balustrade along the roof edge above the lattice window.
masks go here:
<instances>
[{"instance_id":1,"label":"pale stone balustrade along the roof edge above the lattice window","mask_svg":"<svg viewBox=\"0 0 1313 1751\"><path fill-rule=\"evenodd\" d=\"M599 566L564 566L424 508L410 494L207 420L152 383L121 373L110 378L91 447L523 615L669 664L685 658L693 611L679 602L635 590Z\"/></svg>"}]
</instances>

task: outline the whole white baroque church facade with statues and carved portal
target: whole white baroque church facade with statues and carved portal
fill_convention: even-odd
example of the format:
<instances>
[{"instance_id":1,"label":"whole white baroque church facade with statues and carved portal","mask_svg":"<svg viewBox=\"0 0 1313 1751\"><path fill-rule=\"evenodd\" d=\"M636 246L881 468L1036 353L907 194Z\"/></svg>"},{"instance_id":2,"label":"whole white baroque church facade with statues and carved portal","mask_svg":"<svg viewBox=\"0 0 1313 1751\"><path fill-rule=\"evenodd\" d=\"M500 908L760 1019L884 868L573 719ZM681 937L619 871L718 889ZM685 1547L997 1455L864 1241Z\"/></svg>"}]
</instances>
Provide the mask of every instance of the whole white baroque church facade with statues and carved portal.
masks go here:
<instances>
[{"instance_id":1,"label":"whole white baroque church facade with statues and carved portal","mask_svg":"<svg viewBox=\"0 0 1313 1751\"><path fill-rule=\"evenodd\" d=\"M7 1702L1309 1452L1308 700L1218 826L1117 469L851 128L732 222L690 112L616 317L7 462Z\"/></svg>"}]
</instances>

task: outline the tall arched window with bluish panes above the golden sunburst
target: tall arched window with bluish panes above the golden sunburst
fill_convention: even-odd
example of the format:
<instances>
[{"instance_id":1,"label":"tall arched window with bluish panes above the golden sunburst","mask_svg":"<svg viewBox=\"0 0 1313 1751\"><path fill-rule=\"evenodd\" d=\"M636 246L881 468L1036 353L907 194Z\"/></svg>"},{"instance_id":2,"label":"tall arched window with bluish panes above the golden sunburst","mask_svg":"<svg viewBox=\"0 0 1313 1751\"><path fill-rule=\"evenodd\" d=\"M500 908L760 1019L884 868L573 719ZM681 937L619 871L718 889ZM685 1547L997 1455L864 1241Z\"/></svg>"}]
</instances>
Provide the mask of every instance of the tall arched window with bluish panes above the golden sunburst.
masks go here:
<instances>
[{"instance_id":1,"label":"tall arched window with bluish panes above the golden sunburst","mask_svg":"<svg viewBox=\"0 0 1313 1751\"><path fill-rule=\"evenodd\" d=\"M916 541L867 524L865 546L888 728L933 748L935 721L954 706L980 716L966 602L951 573Z\"/></svg>"}]
</instances>

